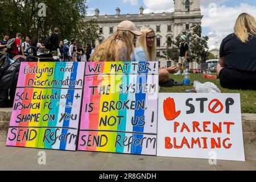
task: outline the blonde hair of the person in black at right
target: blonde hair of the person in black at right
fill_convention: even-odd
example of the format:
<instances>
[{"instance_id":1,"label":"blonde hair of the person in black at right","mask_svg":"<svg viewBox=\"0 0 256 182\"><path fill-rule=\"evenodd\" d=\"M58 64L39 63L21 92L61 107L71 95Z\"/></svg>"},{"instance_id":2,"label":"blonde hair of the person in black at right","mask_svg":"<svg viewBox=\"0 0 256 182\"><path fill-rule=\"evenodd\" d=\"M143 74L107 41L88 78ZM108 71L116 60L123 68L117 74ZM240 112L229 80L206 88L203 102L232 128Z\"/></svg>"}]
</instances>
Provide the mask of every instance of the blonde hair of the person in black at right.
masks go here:
<instances>
[{"instance_id":1,"label":"blonde hair of the person in black at right","mask_svg":"<svg viewBox=\"0 0 256 182\"><path fill-rule=\"evenodd\" d=\"M234 34L242 43L246 43L250 35L256 35L255 18L247 13L239 15L234 26Z\"/></svg>"}]
</instances>

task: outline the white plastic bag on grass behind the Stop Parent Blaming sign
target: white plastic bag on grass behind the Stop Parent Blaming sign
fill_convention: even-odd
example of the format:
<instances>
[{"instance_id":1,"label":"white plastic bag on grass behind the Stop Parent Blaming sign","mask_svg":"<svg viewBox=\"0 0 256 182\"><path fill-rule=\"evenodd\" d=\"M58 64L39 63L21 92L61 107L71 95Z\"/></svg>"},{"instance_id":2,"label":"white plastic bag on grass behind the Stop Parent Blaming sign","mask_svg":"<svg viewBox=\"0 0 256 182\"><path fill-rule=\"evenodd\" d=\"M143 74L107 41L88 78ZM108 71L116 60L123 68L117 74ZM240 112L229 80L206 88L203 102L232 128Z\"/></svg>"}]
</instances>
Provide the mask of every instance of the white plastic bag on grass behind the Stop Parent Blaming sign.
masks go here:
<instances>
[{"instance_id":1,"label":"white plastic bag on grass behind the Stop Parent Blaming sign","mask_svg":"<svg viewBox=\"0 0 256 182\"><path fill-rule=\"evenodd\" d=\"M194 88L197 93L221 93L221 90L212 82L202 84L199 81L194 81Z\"/></svg>"}]
</instances>

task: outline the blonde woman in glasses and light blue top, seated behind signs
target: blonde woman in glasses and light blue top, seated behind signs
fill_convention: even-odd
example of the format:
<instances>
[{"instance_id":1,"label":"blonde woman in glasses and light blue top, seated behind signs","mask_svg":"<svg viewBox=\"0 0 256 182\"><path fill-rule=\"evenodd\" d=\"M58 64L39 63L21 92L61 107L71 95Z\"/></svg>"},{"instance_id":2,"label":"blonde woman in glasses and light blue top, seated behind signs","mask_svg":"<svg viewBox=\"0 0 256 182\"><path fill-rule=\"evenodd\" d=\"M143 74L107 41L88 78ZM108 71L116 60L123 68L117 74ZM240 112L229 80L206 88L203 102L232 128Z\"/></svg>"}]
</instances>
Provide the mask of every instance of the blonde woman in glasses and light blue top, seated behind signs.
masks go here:
<instances>
[{"instance_id":1,"label":"blonde woman in glasses and light blue top, seated behind signs","mask_svg":"<svg viewBox=\"0 0 256 182\"><path fill-rule=\"evenodd\" d=\"M150 27L144 27L141 30L142 35L137 40L134 53L131 55L132 61L156 61L156 43L155 31ZM170 87L174 80L170 79L171 73L176 73L177 67L159 69L159 85Z\"/></svg>"}]
</instances>

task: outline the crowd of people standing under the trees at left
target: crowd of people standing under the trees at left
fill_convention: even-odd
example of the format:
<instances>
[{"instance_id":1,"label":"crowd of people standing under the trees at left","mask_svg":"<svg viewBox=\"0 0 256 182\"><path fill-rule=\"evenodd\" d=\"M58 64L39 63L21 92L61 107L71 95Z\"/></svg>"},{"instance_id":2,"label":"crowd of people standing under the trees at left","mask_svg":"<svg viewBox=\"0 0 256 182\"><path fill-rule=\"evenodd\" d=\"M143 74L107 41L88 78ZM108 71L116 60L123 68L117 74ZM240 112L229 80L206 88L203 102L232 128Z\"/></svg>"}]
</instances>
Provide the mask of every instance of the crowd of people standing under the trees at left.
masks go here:
<instances>
[{"instance_id":1,"label":"crowd of people standing under the trees at left","mask_svg":"<svg viewBox=\"0 0 256 182\"><path fill-rule=\"evenodd\" d=\"M53 33L44 42L40 42L38 37L22 36L17 33L16 37L11 39L9 34L3 35L0 41L0 52L7 52L10 59L17 55L32 55L31 47L36 49L36 55L49 53L56 61L87 61L90 59L95 46L86 43L84 47L76 39L68 41L59 40L60 29L54 28ZM9 47L8 47L9 46Z\"/></svg>"}]
</instances>

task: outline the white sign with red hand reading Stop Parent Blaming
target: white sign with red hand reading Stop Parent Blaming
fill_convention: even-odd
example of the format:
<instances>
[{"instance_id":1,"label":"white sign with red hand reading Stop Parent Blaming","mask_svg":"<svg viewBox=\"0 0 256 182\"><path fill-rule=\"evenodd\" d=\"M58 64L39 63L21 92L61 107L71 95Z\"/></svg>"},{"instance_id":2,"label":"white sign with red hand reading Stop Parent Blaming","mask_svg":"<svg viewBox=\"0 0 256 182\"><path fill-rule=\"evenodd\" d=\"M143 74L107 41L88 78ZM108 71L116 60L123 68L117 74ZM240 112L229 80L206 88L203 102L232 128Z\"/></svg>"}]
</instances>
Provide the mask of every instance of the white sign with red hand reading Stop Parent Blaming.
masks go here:
<instances>
[{"instance_id":1,"label":"white sign with red hand reading Stop Parent Blaming","mask_svg":"<svg viewBox=\"0 0 256 182\"><path fill-rule=\"evenodd\" d=\"M160 93L158 156L245 160L240 94Z\"/></svg>"}]
</instances>

